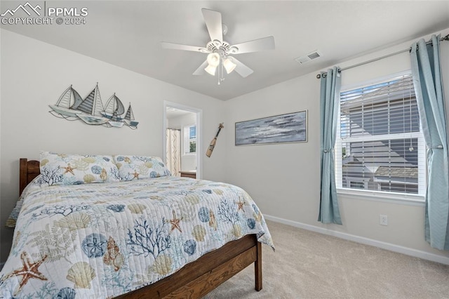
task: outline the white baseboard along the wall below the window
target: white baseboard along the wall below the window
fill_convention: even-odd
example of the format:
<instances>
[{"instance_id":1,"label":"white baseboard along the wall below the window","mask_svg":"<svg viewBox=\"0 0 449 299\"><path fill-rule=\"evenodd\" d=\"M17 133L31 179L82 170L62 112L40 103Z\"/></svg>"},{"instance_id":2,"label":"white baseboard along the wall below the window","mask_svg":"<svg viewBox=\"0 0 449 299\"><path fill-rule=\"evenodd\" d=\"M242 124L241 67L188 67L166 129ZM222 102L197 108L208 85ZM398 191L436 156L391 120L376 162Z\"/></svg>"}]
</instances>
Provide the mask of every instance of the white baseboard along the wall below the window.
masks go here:
<instances>
[{"instance_id":1,"label":"white baseboard along the wall below the window","mask_svg":"<svg viewBox=\"0 0 449 299\"><path fill-rule=\"evenodd\" d=\"M341 238L341 239L354 241L354 242L361 243L361 244L375 246L375 247L379 247L379 248L382 248L382 249L387 249L389 251L394 251L394 252L397 252L397 253L403 253L403 254L406 254L406 255L411 255L411 256L414 256L415 258L422 258L424 260L431 260L432 262L441 263L441 264L444 264L444 265L449 265L449 258L446 258L445 256L442 256L442 255L436 255L434 253L428 253L428 252L425 252L425 251L419 251L419 250L416 250L416 249L413 249L413 248L408 248L408 247L399 246L399 245L395 245L395 244L391 244L391 243L386 243L386 242L382 242L382 241L368 239L368 238L365 238L365 237L359 237L359 236L356 236L354 234L347 234L345 232L336 232L335 230L328 230L328 229L326 229L324 227L317 227L317 226L314 226L314 225L308 225L308 224L305 224L305 223L296 222L296 221L292 221L292 220L287 220L287 219L275 217L275 216L272 216L272 215L265 215L264 214L264 218L267 219L267 220L272 220L274 222L283 223L285 225L291 225L293 227L299 227L299 228L302 228L304 230L311 230L312 232L319 232L320 234L328 234L328 235L333 236L333 237L338 237L338 238Z\"/></svg>"}]
</instances>

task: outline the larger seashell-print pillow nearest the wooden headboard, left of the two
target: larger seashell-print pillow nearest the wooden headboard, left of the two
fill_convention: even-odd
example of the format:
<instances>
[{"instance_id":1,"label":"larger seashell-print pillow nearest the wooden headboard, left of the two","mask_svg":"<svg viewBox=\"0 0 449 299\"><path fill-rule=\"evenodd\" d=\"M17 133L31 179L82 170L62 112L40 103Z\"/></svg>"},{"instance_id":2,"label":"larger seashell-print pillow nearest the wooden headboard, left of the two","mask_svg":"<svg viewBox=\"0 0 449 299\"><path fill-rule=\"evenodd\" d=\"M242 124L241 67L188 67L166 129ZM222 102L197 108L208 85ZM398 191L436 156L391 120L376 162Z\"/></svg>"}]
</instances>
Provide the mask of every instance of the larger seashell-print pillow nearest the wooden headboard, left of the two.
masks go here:
<instances>
[{"instance_id":1,"label":"larger seashell-print pillow nearest the wooden headboard, left of the two","mask_svg":"<svg viewBox=\"0 0 449 299\"><path fill-rule=\"evenodd\" d=\"M119 180L119 169L112 156L41 152L41 184L80 185Z\"/></svg>"}]
</instances>

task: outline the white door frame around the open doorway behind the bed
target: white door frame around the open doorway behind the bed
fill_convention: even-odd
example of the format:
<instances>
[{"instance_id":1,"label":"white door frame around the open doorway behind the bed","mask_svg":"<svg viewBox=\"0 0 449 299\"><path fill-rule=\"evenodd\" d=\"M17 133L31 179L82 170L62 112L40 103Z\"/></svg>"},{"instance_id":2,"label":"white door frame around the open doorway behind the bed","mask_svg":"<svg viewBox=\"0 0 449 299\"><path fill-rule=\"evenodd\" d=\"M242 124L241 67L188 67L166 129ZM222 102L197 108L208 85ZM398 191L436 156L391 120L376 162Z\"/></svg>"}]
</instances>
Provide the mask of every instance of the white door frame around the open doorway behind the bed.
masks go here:
<instances>
[{"instance_id":1,"label":"white door frame around the open doorway behind the bed","mask_svg":"<svg viewBox=\"0 0 449 299\"><path fill-rule=\"evenodd\" d=\"M185 110L188 112L193 112L196 114L196 178L201 179L203 175L203 151L201 150L203 148L202 143L202 135L203 135L203 110L191 107L187 105L182 105L177 102L169 102L164 100L163 101L163 162L165 163L167 161L167 108L175 108L180 110Z\"/></svg>"}]
</instances>

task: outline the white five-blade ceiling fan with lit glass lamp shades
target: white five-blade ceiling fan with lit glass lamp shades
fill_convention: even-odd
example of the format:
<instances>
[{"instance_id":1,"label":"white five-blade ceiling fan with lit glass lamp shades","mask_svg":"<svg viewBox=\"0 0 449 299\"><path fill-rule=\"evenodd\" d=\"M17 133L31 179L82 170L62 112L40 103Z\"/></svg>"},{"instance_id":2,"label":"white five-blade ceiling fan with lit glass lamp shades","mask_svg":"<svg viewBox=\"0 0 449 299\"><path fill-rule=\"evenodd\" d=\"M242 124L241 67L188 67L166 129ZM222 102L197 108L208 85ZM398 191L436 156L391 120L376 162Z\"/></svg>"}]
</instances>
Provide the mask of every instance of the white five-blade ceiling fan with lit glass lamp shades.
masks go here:
<instances>
[{"instance_id":1,"label":"white five-blade ceiling fan with lit glass lamp shades","mask_svg":"<svg viewBox=\"0 0 449 299\"><path fill-rule=\"evenodd\" d=\"M201 11L210 36L210 41L206 44L206 47L173 44L166 41L162 42L162 47L167 49L208 53L206 61L196 69L193 73L194 75L201 75L204 72L208 72L208 74L215 76L218 72L218 84L220 84L220 81L224 80L224 69L227 74L235 69L241 77L246 78L250 74L253 74L253 69L250 69L231 55L274 49L273 36L246 41L236 45L229 44L223 39L223 36L227 33L227 26L222 24L222 14L206 8L202 8Z\"/></svg>"}]
</instances>

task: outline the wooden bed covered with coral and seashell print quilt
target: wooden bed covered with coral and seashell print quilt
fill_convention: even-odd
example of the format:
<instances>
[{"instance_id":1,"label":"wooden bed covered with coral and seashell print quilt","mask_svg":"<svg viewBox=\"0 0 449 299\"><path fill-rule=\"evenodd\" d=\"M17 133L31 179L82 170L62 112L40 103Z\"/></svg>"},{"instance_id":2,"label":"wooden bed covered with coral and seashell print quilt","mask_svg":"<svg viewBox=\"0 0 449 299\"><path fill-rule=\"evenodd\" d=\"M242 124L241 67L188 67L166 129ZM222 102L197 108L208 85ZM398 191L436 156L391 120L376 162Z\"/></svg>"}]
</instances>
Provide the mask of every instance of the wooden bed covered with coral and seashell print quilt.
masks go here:
<instances>
[{"instance_id":1,"label":"wooden bed covered with coral and seashell print quilt","mask_svg":"<svg viewBox=\"0 0 449 299\"><path fill-rule=\"evenodd\" d=\"M69 158L63 159L67 161ZM74 161L73 157L70 159ZM121 163L124 163L123 159ZM79 165L69 165L68 173ZM13 248L0 272L0 298L2 295L4 298L32 298L45 294L52 298L201 298L252 263L255 267L255 290L262 289L261 242L272 248L274 245L262 213L239 187L170 175L135 178L135 173L130 171L126 175L134 175L133 179L124 182L42 187L40 183L36 184L36 180L41 180L43 175L40 175L41 169L39 161L20 159L20 195L23 202L15 227ZM129 192L127 188L133 191ZM147 188L152 188L149 191L152 200L148 199L148 194L142 195L142 192L147 192L144 191ZM115 190L117 199L105 195L108 189ZM123 192L126 192L126 199L129 200L126 202L131 203L127 206L123 204ZM236 197L228 199L228 193ZM46 194L46 197L41 199L41 194ZM173 201L165 197L172 197ZM209 203L212 197L220 199L215 208L206 206L206 201ZM80 198L81 204L91 205L78 206L76 210L73 206L76 202L79 204ZM158 211L159 217L147 215L142 211L151 209L145 206L150 201L170 208ZM184 206L187 201L196 208L187 204ZM72 204L76 213L64 210L61 202ZM180 210L173 208L173 203L177 203ZM109 208L100 208L105 205ZM203 211L205 207L206 211ZM128 214L125 213L127 211ZM194 213L190 213L192 211ZM83 222L80 217L75 219L77 222L73 222L73 217L73 221L69 222L67 218L71 215L83 215L91 226L97 221L97 226L104 226L104 231L88 230L86 221ZM98 219L102 220L94 219L93 215L98 215ZM111 221L111 215L121 217ZM126 222L126 218L132 221ZM163 248L158 249L158 255L154 254L157 250L149 250L152 253L149 254L145 251L147 249L142 249L145 247L142 246L142 230L133 231L133 228L141 228L145 223L152 222L150 220L153 218L161 218L159 227L154 227L153 231L156 233L159 230L159 239L165 238L165 244L170 242L171 245L165 248L167 246L159 244ZM116 222L121 223L119 229L114 226ZM187 224L191 225L190 229ZM36 227L39 225L45 229L38 230ZM223 234L225 237L220 237L218 233L220 225L227 230ZM61 248L56 250L52 242L48 241L51 236L55 238L58 230L61 235L71 235L72 241L78 242L66 248L67 251L70 249L69 253L65 252L67 254L58 253ZM190 232L187 241L182 237L182 231ZM114 238L107 236L108 232ZM47 241L43 241L44 237ZM60 235L56 235L58 237ZM175 245L177 239L181 245ZM206 241L211 246L203 245ZM48 248L44 244L46 242L50 244ZM102 246L98 246L99 243ZM173 252L170 251L172 248ZM52 253L52 250L55 252ZM119 274L121 272L125 274Z\"/></svg>"}]
</instances>

